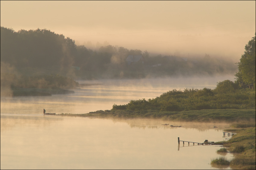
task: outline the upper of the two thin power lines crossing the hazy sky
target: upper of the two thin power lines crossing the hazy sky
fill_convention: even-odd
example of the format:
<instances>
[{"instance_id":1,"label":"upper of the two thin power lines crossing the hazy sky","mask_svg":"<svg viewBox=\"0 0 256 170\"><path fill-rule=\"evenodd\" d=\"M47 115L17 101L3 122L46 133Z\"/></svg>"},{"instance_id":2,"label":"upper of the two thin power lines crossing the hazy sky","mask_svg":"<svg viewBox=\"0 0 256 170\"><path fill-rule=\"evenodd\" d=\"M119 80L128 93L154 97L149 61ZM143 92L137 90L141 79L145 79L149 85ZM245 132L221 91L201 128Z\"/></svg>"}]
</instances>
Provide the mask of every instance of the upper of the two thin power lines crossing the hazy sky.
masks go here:
<instances>
[{"instance_id":1,"label":"upper of the two thin power lines crossing the hazy sky","mask_svg":"<svg viewBox=\"0 0 256 170\"><path fill-rule=\"evenodd\" d=\"M248 21L255 21L255 19L248 20ZM239 22L248 22L248 21L239 21ZM233 23L239 23L239 22L229 22L229 23L214 24L214 25L225 25L225 24L233 24ZM200 28L200 27L208 27L208 26L214 26L214 25L204 25L204 26L186 27L186 28L175 28L175 29L166 29L166 30L157 30L157 31L170 31L170 30L179 30L179 29L188 29L188 28ZM157 31L128 32L128 33L101 34L101 35L80 35L80 36L70 36L70 37L90 37L90 36L103 36L103 35L136 34L136 33L146 33L146 32L157 32Z\"/></svg>"}]
</instances>

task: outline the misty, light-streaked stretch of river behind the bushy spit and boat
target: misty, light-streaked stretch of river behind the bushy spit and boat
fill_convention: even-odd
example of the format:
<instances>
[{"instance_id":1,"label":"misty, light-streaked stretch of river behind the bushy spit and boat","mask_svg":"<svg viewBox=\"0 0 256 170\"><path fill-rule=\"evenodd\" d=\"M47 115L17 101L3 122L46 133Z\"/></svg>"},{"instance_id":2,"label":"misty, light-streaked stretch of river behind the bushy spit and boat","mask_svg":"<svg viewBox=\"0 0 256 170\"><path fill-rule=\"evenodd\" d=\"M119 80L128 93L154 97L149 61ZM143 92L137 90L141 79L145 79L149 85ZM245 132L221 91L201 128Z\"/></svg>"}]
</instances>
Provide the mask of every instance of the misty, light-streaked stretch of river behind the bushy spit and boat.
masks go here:
<instances>
[{"instance_id":1,"label":"misty, light-streaked stretch of river behind the bushy spit and boat","mask_svg":"<svg viewBox=\"0 0 256 170\"><path fill-rule=\"evenodd\" d=\"M78 80L89 84L74 90L74 94L40 97L1 97L1 114L48 113L84 114L97 110L110 110L114 104L123 105L130 100L152 99L161 94L185 88L203 89L216 87L217 82L232 80L233 76L191 77L162 79L102 79Z\"/></svg>"}]
</instances>

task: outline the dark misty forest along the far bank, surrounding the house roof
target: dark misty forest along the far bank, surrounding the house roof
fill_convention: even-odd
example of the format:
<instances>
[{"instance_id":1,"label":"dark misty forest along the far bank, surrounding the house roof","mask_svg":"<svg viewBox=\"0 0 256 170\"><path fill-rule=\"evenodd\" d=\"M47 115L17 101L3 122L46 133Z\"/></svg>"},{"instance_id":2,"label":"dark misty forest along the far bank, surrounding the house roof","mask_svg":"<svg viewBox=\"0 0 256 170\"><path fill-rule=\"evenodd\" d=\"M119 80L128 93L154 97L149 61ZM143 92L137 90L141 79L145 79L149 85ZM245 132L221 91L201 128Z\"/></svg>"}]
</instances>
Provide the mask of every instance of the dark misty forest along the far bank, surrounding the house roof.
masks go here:
<instances>
[{"instance_id":1,"label":"dark misty forest along the far bank, surrounding the house roof","mask_svg":"<svg viewBox=\"0 0 256 170\"><path fill-rule=\"evenodd\" d=\"M129 64L129 55L142 62ZM46 29L14 31L1 27L1 73L15 68L20 74L60 74L73 79L147 78L234 74L235 63L205 54L204 57L151 56L147 50L101 46L97 50L76 45L63 34Z\"/></svg>"}]
</instances>

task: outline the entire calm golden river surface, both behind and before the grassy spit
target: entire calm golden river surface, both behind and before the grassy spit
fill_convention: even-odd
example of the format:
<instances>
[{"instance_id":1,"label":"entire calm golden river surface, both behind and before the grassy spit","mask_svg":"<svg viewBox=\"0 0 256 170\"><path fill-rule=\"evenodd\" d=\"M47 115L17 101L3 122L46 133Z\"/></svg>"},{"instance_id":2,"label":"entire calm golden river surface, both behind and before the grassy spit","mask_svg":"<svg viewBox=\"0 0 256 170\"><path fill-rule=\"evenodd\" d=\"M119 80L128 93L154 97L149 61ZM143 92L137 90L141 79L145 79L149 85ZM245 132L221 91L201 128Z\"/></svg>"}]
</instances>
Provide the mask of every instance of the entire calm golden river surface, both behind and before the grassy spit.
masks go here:
<instances>
[{"instance_id":1,"label":"entire calm golden river surface, both behind and before the grassy spit","mask_svg":"<svg viewBox=\"0 0 256 170\"><path fill-rule=\"evenodd\" d=\"M223 137L223 129L229 124L71 118L43 115L43 109L56 114L110 110L114 103L155 98L172 89L213 89L225 79L205 79L203 85L194 79L80 81L98 85L69 95L2 97L1 169L218 169L210 162L222 156L216 153L221 146L181 142L178 147L178 137L226 141L230 137Z\"/></svg>"}]
</instances>

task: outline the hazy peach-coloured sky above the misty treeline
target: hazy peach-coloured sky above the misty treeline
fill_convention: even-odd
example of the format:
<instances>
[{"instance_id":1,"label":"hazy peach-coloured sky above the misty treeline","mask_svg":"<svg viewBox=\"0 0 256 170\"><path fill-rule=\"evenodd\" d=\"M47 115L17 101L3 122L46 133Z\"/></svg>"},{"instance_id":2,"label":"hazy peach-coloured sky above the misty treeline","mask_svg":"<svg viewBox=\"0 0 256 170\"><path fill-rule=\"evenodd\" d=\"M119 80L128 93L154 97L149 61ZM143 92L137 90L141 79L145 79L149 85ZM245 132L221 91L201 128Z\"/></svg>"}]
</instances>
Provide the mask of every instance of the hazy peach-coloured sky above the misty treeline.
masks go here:
<instances>
[{"instance_id":1,"label":"hazy peach-coloured sky above the misty treeline","mask_svg":"<svg viewBox=\"0 0 256 170\"><path fill-rule=\"evenodd\" d=\"M232 57L254 37L256 1L2 1L1 26L48 29L150 54ZM88 41L92 45L88 45Z\"/></svg>"}]
</instances>

